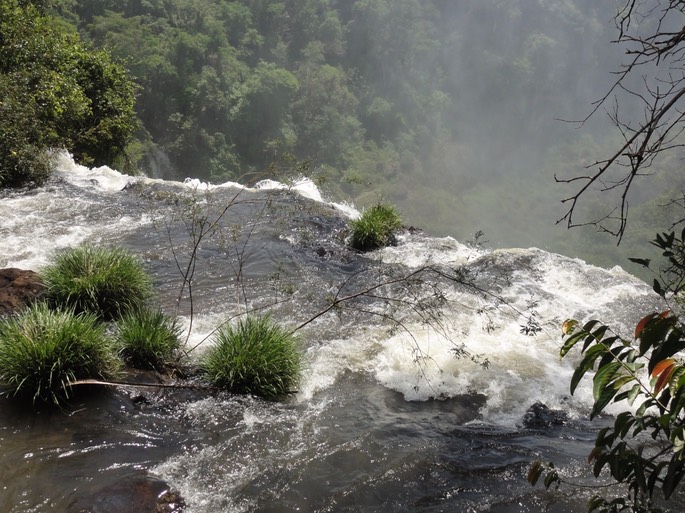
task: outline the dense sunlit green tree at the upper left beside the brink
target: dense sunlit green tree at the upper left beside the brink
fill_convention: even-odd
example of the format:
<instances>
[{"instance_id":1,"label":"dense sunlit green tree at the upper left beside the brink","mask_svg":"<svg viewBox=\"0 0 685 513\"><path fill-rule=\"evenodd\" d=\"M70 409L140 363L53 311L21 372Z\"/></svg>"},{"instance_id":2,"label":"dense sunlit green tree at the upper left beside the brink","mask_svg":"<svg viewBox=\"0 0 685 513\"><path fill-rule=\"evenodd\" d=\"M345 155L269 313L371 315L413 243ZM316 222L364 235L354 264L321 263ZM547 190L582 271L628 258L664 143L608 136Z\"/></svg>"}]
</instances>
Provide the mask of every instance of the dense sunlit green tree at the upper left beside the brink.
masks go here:
<instances>
[{"instance_id":1,"label":"dense sunlit green tree at the upper left beside the brink","mask_svg":"<svg viewBox=\"0 0 685 513\"><path fill-rule=\"evenodd\" d=\"M124 69L40 7L0 1L0 187L44 181L52 148L111 164L137 126Z\"/></svg>"}]
</instances>

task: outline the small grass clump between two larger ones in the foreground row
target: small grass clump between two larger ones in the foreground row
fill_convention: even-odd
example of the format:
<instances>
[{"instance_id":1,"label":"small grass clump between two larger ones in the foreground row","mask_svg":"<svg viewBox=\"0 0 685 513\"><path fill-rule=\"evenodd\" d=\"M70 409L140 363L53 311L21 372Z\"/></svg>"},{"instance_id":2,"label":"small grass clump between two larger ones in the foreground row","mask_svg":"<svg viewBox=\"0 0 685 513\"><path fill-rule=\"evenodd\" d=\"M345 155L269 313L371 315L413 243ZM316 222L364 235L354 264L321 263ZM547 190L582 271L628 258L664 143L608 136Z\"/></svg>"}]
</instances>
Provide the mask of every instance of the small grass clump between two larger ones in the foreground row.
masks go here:
<instances>
[{"instance_id":1,"label":"small grass clump between two larger ones in the foreground row","mask_svg":"<svg viewBox=\"0 0 685 513\"><path fill-rule=\"evenodd\" d=\"M116 324L119 355L137 369L161 371L180 347L181 327L161 309L143 308Z\"/></svg>"}]
</instances>

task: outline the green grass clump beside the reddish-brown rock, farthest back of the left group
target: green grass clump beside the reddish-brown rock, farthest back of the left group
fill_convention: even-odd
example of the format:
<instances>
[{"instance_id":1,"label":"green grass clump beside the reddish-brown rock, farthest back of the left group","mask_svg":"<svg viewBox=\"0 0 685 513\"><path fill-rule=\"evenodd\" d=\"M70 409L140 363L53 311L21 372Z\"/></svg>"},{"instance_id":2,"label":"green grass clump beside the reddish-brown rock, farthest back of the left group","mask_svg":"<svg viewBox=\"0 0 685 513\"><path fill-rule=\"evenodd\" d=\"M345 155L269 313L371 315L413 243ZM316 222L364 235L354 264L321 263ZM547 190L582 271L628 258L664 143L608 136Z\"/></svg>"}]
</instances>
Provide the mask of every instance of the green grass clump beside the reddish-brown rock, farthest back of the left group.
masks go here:
<instances>
[{"instance_id":1,"label":"green grass clump beside the reddish-brown rock, farthest back of the left group","mask_svg":"<svg viewBox=\"0 0 685 513\"><path fill-rule=\"evenodd\" d=\"M53 306L92 312L104 320L142 308L152 295L152 282L140 261L120 248L70 248L40 274Z\"/></svg>"}]
</instances>

